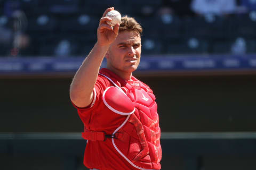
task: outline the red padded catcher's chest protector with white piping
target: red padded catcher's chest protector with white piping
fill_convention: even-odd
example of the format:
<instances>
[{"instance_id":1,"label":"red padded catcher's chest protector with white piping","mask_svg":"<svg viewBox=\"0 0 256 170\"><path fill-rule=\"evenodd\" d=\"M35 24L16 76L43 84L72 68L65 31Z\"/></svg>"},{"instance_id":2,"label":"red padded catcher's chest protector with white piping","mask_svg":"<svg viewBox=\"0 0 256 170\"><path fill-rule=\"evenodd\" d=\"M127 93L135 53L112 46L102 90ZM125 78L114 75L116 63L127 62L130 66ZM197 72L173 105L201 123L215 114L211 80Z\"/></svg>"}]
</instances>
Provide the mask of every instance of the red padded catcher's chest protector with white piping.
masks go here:
<instances>
[{"instance_id":1,"label":"red padded catcher's chest protector with white piping","mask_svg":"<svg viewBox=\"0 0 256 170\"><path fill-rule=\"evenodd\" d=\"M103 92L103 103L115 114L126 116L111 134L114 148L135 168L161 169L161 131L153 91L134 77L120 87L111 75L101 75L114 85Z\"/></svg>"}]
</instances>

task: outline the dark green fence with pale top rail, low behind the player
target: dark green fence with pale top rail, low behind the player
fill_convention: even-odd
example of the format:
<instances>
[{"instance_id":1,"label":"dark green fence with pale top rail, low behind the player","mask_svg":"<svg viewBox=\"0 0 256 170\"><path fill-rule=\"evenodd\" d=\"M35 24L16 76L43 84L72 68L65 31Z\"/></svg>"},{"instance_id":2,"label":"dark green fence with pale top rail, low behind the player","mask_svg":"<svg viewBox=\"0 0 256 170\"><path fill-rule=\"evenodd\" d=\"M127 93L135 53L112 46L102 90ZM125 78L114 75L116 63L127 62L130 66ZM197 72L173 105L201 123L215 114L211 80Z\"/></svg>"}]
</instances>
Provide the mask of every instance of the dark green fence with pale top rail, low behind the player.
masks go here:
<instances>
[{"instance_id":1,"label":"dark green fence with pale top rail, low behind the player","mask_svg":"<svg viewBox=\"0 0 256 170\"><path fill-rule=\"evenodd\" d=\"M162 169L255 169L256 133L162 133ZM86 169L81 133L0 134L1 169Z\"/></svg>"}]
</instances>

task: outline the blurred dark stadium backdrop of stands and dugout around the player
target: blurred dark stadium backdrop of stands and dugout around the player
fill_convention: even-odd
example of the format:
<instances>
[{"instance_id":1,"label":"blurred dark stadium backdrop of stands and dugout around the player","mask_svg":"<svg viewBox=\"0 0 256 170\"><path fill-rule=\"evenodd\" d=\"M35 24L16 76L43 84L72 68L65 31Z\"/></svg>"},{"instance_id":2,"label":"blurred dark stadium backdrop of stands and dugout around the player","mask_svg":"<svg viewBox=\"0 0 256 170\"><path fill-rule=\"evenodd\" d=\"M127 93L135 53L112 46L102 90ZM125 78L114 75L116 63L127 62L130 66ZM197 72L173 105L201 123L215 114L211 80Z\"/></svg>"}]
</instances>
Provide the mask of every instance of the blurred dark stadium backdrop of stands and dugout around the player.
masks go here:
<instances>
[{"instance_id":1,"label":"blurred dark stadium backdrop of stands and dugout around the player","mask_svg":"<svg viewBox=\"0 0 256 170\"><path fill-rule=\"evenodd\" d=\"M255 169L255 0L0 1L0 169L86 169L69 86L111 6L143 27L162 169Z\"/></svg>"}]
</instances>

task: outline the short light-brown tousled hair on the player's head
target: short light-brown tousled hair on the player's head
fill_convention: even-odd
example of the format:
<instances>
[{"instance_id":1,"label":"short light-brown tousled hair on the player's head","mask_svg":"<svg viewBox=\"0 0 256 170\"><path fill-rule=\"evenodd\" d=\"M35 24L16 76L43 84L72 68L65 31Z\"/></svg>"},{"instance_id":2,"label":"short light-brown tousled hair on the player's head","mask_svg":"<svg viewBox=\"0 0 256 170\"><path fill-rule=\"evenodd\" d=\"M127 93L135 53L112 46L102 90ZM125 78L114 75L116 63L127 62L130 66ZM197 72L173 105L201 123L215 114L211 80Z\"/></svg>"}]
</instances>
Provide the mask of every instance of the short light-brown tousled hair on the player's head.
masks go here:
<instances>
[{"instance_id":1,"label":"short light-brown tousled hair on the player's head","mask_svg":"<svg viewBox=\"0 0 256 170\"><path fill-rule=\"evenodd\" d=\"M119 32L122 31L136 31L141 35L142 27L134 18L125 15L121 18L119 27Z\"/></svg>"}]
</instances>

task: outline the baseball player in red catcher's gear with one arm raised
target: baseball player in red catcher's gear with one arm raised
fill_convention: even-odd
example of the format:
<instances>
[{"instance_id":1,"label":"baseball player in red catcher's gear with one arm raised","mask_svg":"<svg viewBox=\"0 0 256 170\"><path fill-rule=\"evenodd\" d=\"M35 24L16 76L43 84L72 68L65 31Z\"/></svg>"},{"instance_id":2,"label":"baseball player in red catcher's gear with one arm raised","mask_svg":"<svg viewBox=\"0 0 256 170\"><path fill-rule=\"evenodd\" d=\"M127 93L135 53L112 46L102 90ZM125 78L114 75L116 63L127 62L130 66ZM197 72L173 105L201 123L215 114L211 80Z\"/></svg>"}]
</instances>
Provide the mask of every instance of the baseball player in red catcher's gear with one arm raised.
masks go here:
<instances>
[{"instance_id":1,"label":"baseball player in red catcher's gear with one arm raised","mask_svg":"<svg viewBox=\"0 0 256 170\"><path fill-rule=\"evenodd\" d=\"M78 69L70 99L84 123L84 165L99 170L161 169L157 104L147 84L132 76L140 63L141 25L124 16L110 27L100 19L97 43ZM100 70L103 58L107 67Z\"/></svg>"}]
</instances>

